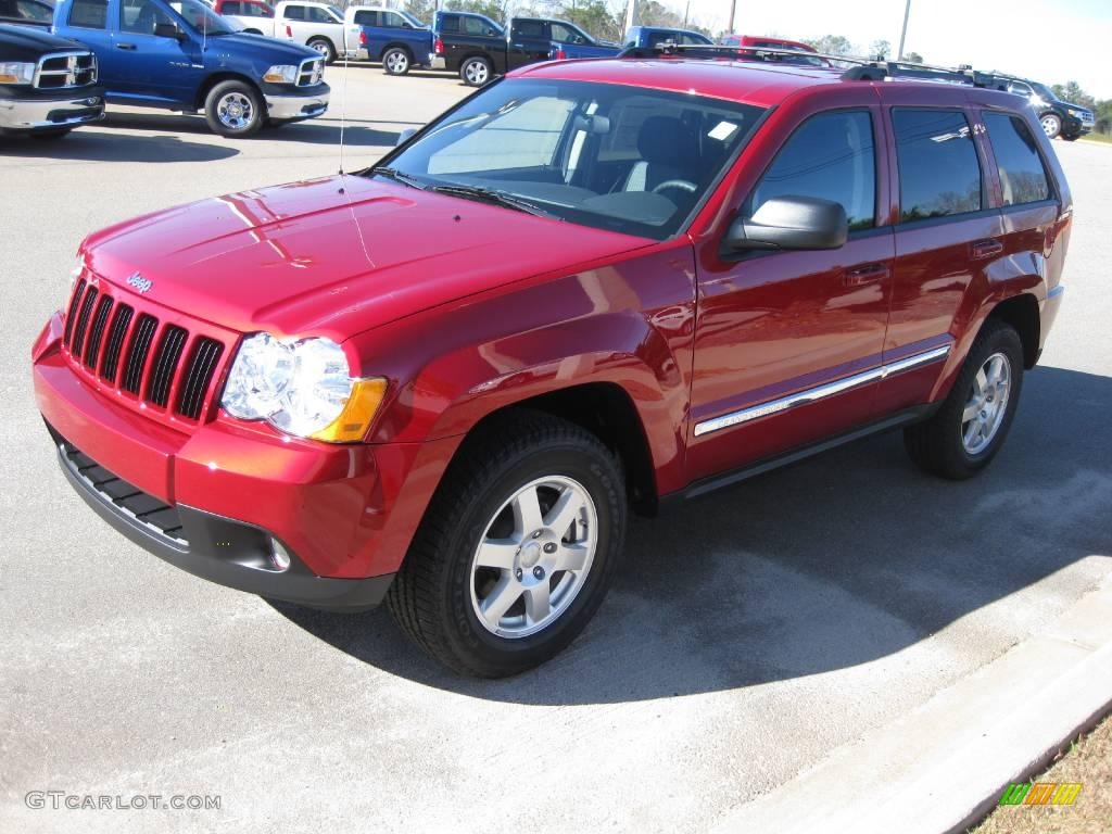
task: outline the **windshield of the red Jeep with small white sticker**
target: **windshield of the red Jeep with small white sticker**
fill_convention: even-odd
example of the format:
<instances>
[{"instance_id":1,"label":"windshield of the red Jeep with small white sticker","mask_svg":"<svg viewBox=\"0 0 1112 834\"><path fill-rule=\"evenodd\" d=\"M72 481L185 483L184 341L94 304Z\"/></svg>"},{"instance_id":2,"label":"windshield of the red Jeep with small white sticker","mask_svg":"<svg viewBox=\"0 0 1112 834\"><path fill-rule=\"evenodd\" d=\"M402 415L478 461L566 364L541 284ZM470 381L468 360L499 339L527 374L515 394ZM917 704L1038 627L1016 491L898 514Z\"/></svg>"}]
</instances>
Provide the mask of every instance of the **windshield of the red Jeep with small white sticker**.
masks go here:
<instances>
[{"instance_id":1,"label":"windshield of the red Jeep with small white sticker","mask_svg":"<svg viewBox=\"0 0 1112 834\"><path fill-rule=\"evenodd\" d=\"M663 240L762 112L625 85L509 79L433 122L385 170L364 173Z\"/></svg>"}]
</instances>

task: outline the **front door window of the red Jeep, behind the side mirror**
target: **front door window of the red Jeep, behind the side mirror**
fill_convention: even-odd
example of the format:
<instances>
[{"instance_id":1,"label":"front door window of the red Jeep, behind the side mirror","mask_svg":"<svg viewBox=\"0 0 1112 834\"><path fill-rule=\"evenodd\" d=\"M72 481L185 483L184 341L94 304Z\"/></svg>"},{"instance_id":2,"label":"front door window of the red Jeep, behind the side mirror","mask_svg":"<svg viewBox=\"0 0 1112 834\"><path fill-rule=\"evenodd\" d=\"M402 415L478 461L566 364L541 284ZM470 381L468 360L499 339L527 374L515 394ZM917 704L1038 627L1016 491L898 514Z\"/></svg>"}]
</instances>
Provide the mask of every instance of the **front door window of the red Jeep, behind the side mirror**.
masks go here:
<instances>
[{"instance_id":1,"label":"front door window of the red Jeep, behind the side mirror","mask_svg":"<svg viewBox=\"0 0 1112 834\"><path fill-rule=\"evenodd\" d=\"M773 197L820 197L841 202L850 229L874 226L876 151L866 110L812 116L788 138L745 207L753 215Z\"/></svg>"}]
</instances>

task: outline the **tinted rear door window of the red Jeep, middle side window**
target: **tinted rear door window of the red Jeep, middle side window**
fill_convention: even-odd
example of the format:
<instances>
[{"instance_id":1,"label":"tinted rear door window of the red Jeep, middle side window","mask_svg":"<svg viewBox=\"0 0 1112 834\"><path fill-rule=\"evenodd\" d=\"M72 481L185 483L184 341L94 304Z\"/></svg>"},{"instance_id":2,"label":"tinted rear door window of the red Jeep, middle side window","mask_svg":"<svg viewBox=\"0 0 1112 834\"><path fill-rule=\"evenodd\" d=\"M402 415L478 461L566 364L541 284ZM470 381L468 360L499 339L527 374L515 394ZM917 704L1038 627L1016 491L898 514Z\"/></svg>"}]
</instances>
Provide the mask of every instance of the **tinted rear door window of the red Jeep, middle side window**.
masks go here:
<instances>
[{"instance_id":1,"label":"tinted rear door window of the red Jeep, middle side window","mask_svg":"<svg viewBox=\"0 0 1112 834\"><path fill-rule=\"evenodd\" d=\"M900 220L982 208L981 162L961 110L892 111L900 167Z\"/></svg>"}]
</instances>

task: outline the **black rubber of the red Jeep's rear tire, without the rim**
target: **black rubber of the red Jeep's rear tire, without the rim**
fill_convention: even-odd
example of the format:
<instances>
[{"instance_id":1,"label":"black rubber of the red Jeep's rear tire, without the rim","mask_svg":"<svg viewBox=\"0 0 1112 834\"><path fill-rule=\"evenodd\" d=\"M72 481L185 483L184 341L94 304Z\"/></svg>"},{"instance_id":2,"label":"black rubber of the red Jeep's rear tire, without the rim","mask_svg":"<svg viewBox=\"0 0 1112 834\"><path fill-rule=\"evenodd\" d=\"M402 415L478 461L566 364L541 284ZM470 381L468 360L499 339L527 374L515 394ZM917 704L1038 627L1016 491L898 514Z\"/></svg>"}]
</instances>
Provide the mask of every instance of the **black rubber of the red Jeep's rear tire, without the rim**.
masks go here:
<instances>
[{"instance_id":1,"label":"black rubber of the red Jeep's rear tire, without the rim","mask_svg":"<svg viewBox=\"0 0 1112 834\"><path fill-rule=\"evenodd\" d=\"M970 403L974 380L981 367L994 355L1009 365L1010 384L1001 421L987 445L971 454L963 441L963 413ZM925 423L904 429L904 447L922 469L952 480L976 475L1000 451L1012 427L1023 388L1023 344L1020 335L1003 321L989 319L970 348L950 396ZM990 399L991 401L991 399Z\"/></svg>"}]
</instances>

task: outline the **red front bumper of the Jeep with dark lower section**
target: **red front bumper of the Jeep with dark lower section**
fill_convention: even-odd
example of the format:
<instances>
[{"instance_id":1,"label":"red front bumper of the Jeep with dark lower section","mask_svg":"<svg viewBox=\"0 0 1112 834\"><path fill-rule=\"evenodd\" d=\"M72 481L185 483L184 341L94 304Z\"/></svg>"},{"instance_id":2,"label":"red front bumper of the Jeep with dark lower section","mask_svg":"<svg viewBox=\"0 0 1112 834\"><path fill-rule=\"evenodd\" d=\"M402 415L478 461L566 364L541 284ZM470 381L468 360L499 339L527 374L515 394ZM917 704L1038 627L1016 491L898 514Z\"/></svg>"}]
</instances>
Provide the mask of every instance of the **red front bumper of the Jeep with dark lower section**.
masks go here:
<instances>
[{"instance_id":1,"label":"red front bumper of the Jeep with dark lower section","mask_svg":"<svg viewBox=\"0 0 1112 834\"><path fill-rule=\"evenodd\" d=\"M78 373L62 329L53 315L32 349L36 401L67 477L109 524L249 593L348 610L383 598L458 438L331 445L222 415L186 426Z\"/></svg>"}]
</instances>

